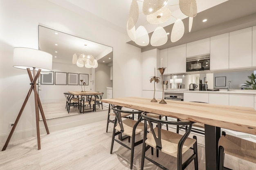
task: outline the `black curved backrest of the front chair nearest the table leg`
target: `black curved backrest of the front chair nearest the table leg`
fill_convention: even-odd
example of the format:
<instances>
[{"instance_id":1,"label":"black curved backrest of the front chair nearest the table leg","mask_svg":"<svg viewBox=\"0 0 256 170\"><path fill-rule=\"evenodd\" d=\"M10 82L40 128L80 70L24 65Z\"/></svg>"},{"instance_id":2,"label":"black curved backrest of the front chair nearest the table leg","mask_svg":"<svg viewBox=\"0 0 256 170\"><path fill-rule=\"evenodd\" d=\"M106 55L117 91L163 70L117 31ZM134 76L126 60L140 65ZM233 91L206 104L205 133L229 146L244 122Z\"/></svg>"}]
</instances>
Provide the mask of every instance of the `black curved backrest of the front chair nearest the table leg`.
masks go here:
<instances>
[{"instance_id":1,"label":"black curved backrest of the front chair nearest the table leg","mask_svg":"<svg viewBox=\"0 0 256 170\"><path fill-rule=\"evenodd\" d=\"M173 124L173 125L178 125L178 126L182 126L182 125L187 125L188 126L188 129L186 130L186 133L183 135L183 137L180 139L179 143L178 143L178 149L181 149L186 138L189 136L189 133L191 132L191 128L192 128L192 124L195 123L195 122L191 122L191 121L182 121L182 122L173 122L173 121L168 121L168 120L160 120L160 119L157 119L157 118L153 118L153 117L149 117L149 116L146 116L147 115L147 112L142 112L141 113L141 117L144 118L144 133L145 131L147 131L147 121L148 121L148 124L150 126L150 131L155 139L155 143L156 143L156 148L158 150L162 150L162 142L161 142L161 125L162 124ZM153 128L153 124L152 123L157 123L157 135L154 131L154 128Z\"/></svg>"}]
</instances>

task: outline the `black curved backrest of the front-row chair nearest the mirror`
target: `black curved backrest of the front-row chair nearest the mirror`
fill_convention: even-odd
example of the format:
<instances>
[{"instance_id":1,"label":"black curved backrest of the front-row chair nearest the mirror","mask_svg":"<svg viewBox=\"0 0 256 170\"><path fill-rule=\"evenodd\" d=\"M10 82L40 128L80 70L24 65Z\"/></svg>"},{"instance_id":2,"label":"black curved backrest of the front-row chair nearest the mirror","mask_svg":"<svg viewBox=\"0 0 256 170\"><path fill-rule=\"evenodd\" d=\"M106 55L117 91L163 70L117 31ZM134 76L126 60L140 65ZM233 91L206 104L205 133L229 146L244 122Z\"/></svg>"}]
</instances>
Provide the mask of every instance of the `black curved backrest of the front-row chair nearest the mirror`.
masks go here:
<instances>
[{"instance_id":1,"label":"black curved backrest of the front-row chair nearest the mirror","mask_svg":"<svg viewBox=\"0 0 256 170\"><path fill-rule=\"evenodd\" d=\"M123 107L121 107L121 106L113 106L112 110L115 113L115 117L117 119L117 123L120 126L121 132L124 132L124 126L123 126L123 122L122 122L122 118L121 118L121 113L140 114L142 111L133 111L133 110L132 111L127 111L127 110L122 110L122 108ZM141 120L141 116L140 116L139 120L137 121L137 123L139 123L140 120Z\"/></svg>"}]
</instances>

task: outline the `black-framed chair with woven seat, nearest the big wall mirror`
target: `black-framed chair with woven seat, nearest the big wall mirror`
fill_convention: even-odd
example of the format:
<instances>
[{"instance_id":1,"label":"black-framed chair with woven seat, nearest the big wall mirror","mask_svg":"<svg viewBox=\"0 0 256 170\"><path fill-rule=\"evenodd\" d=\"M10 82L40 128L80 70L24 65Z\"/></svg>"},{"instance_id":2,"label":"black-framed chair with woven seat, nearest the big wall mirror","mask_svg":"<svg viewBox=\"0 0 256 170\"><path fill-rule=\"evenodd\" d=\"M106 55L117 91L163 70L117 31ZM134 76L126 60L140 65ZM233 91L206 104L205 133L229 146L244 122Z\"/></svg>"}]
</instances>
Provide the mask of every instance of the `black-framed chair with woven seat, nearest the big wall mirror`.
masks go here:
<instances>
[{"instance_id":1,"label":"black-framed chair with woven seat, nearest the big wall mirror","mask_svg":"<svg viewBox=\"0 0 256 170\"><path fill-rule=\"evenodd\" d=\"M121 144L122 146L128 148L131 150L131 159L130 159L130 169L132 169L133 165L133 155L134 155L134 147L142 143L142 139L135 142L135 135L143 132L144 130L144 124L141 121L140 113L141 111L125 111L122 110L122 107L119 106L113 106L112 110L115 113L115 122L114 122L114 128L113 128L113 134L112 134L112 142L111 142L111 149L110 154L112 154L114 141ZM132 119L125 119L122 120L121 113L129 113L129 114L138 114L138 121L132 120ZM116 132L117 131L117 132ZM132 137L132 143L131 147L127 146L126 144L122 143L119 139L115 139L116 135L119 134L127 135L130 139ZM129 140L130 142L130 140Z\"/></svg>"}]
</instances>

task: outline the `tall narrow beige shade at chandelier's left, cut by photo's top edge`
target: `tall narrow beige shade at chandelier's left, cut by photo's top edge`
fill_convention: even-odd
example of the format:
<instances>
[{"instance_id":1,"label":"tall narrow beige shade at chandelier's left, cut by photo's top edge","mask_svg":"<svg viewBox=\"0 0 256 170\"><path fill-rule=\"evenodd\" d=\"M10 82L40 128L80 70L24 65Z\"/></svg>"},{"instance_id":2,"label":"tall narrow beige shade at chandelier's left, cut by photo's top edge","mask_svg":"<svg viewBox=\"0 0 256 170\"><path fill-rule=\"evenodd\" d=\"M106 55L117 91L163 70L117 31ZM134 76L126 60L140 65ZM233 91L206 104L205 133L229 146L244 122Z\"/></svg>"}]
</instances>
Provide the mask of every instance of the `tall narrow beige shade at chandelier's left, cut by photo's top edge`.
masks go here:
<instances>
[{"instance_id":1,"label":"tall narrow beige shade at chandelier's left, cut by photo's top edge","mask_svg":"<svg viewBox=\"0 0 256 170\"><path fill-rule=\"evenodd\" d=\"M139 17L139 5L137 0L132 0L132 4L130 7L130 13L128 17L128 22L127 22L127 28L128 30L132 29L132 27L135 26L137 20Z\"/></svg>"}]
</instances>

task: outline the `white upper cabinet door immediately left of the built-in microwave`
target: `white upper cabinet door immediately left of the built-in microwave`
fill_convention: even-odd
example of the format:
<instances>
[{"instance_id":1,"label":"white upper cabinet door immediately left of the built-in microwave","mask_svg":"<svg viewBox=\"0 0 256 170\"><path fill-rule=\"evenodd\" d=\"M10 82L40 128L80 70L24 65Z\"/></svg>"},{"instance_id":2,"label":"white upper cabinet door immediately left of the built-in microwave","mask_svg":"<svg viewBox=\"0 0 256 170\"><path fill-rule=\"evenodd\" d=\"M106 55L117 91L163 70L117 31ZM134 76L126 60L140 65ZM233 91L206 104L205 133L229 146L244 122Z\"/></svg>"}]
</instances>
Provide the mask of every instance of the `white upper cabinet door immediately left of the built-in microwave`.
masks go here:
<instances>
[{"instance_id":1,"label":"white upper cabinet door immediately left of the built-in microwave","mask_svg":"<svg viewBox=\"0 0 256 170\"><path fill-rule=\"evenodd\" d=\"M167 73L186 72L186 44L168 48Z\"/></svg>"}]
</instances>

